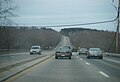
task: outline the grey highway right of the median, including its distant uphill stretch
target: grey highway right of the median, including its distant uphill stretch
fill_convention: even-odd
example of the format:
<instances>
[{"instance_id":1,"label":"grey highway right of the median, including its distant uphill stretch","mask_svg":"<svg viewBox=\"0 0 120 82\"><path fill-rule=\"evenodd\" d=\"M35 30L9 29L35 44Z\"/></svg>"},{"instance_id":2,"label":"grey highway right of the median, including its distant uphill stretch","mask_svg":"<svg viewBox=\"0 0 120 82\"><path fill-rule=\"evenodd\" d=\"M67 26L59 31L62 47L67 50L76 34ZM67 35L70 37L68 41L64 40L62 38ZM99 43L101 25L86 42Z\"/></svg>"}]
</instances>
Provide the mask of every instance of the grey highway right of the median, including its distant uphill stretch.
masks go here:
<instances>
[{"instance_id":1,"label":"grey highway right of the median, including its distant uphill stretch","mask_svg":"<svg viewBox=\"0 0 120 82\"><path fill-rule=\"evenodd\" d=\"M70 45L68 37L63 37L58 47L63 45ZM54 50L50 52L46 51L43 55L48 53L47 56L51 57L15 74L5 82L120 82L120 58L104 56L103 59L87 59L86 55L73 52L72 59L55 59ZM30 58L31 55L28 56L26 57Z\"/></svg>"}]
</instances>

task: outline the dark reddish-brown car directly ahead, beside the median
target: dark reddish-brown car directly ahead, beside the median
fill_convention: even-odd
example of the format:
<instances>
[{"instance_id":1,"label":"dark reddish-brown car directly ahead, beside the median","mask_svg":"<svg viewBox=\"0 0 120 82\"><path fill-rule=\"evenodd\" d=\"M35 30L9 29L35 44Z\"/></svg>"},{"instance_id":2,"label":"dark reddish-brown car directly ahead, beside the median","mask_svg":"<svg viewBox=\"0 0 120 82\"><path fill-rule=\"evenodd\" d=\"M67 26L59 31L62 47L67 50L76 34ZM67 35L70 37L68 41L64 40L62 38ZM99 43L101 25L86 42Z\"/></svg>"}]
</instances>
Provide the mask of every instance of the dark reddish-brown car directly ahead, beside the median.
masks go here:
<instances>
[{"instance_id":1,"label":"dark reddish-brown car directly ahead, beside the median","mask_svg":"<svg viewBox=\"0 0 120 82\"><path fill-rule=\"evenodd\" d=\"M71 59L72 56L72 51L69 47L63 46L60 47L56 52L55 52L55 59L58 57L68 57Z\"/></svg>"}]
</instances>

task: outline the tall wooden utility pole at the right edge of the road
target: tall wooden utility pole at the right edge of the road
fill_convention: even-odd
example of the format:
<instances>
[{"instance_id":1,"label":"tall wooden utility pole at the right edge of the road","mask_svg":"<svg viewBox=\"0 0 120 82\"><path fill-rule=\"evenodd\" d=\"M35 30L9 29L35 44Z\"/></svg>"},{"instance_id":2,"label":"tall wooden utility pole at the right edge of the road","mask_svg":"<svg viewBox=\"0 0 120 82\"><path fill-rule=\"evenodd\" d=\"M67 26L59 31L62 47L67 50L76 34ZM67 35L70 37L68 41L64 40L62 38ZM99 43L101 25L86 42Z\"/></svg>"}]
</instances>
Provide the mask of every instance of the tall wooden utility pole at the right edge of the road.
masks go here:
<instances>
[{"instance_id":1,"label":"tall wooden utility pole at the right edge of the road","mask_svg":"<svg viewBox=\"0 0 120 82\"><path fill-rule=\"evenodd\" d=\"M117 29L116 29L116 53L119 50L119 11L120 10L120 0L118 0L118 10L117 10Z\"/></svg>"}]
</instances>

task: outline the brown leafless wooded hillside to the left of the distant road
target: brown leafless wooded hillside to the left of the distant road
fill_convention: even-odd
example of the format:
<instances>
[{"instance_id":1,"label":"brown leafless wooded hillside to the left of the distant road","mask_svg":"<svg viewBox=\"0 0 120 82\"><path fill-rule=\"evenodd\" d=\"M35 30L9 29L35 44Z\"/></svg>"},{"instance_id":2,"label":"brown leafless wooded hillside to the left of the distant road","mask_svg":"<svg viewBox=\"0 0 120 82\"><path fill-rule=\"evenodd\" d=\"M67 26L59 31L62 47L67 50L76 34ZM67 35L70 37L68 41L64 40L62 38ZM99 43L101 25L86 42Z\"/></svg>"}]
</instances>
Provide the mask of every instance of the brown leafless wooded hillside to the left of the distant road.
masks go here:
<instances>
[{"instance_id":1,"label":"brown leafless wooded hillside to the left of the distant road","mask_svg":"<svg viewBox=\"0 0 120 82\"><path fill-rule=\"evenodd\" d=\"M32 45L52 49L60 39L61 34L49 28L0 27L0 49L29 49Z\"/></svg>"}]
</instances>

